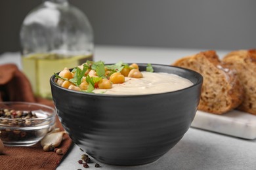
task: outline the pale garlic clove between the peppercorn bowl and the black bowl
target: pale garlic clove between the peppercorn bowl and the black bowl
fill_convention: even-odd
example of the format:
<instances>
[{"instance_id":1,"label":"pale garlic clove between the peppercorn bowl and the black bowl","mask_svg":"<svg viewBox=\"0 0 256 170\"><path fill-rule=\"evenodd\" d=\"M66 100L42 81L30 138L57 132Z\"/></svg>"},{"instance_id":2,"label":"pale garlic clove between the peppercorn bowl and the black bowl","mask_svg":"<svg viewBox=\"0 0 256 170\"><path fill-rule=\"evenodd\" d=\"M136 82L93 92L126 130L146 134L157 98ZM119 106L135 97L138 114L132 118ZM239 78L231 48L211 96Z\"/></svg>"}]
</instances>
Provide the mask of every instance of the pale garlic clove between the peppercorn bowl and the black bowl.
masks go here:
<instances>
[{"instance_id":1,"label":"pale garlic clove between the peppercorn bowl and the black bowl","mask_svg":"<svg viewBox=\"0 0 256 170\"><path fill-rule=\"evenodd\" d=\"M66 131L59 131L59 132L47 134L41 140L41 146L52 144L54 147L58 147L60 145L60 143L62 141L62 137L65 133L66 133Z\"/></svg>"}]
</instances>

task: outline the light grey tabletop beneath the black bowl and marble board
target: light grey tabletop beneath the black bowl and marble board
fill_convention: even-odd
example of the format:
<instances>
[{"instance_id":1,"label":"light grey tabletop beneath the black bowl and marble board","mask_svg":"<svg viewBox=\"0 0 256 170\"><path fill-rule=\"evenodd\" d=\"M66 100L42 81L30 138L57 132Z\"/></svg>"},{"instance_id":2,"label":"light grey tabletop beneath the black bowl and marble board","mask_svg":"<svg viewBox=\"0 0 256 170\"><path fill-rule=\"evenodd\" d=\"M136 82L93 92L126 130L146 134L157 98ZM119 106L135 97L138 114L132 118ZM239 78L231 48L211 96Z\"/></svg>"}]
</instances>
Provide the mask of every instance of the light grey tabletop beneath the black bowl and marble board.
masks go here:
<instances>
[{"instance_id":1,"label":"light grey tabletop beneath the black bowl and marble board","mask_svg":"<svg viewBox=\"0 0 256 170\"><path fill-rule=\"evenodd\" d=\"M179 48L147 48L127 46L96 46L95 61L106 63L123 61L126 63L160 63L170 64L176 59L196 54L207 49L179 49ZM228 51L217 50L220 58ZM7 52L0 56L0 64L16 63L20 69L20 54ZM73 144L57 170L84 169L77 163L83 152ZM167 154L159 160L132 167L118 167L106 165L93 160L89 169L95 163L101 165L101 170L109 169L256 169L256 140L239 139L228 135L190 128L184 137Z\"/></svg>"}]
</instances>

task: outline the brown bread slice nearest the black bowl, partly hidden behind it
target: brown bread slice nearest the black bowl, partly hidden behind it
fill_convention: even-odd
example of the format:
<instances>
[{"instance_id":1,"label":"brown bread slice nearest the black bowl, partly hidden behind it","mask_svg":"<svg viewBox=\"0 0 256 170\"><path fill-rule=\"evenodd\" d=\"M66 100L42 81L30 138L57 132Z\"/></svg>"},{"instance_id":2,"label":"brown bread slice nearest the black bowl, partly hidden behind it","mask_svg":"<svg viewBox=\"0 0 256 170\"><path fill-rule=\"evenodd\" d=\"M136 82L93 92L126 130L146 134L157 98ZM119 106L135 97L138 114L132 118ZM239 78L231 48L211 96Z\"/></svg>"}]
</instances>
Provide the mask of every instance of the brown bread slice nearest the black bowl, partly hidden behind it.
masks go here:
<instances>
[{"instance_id":1,"label":"brown bread slice nearest the black bowl, partly hidden behind it","mask_svg":"<svg viewBox=\"0 0 256 170\"><path fill-rule=\"evenodd\" d=\"M242 103L244 90L236 71L228 69L213 50L177 60L172 65L197 71L203 76L199 110L223 114Z\"/></svg>"}]
</instances>

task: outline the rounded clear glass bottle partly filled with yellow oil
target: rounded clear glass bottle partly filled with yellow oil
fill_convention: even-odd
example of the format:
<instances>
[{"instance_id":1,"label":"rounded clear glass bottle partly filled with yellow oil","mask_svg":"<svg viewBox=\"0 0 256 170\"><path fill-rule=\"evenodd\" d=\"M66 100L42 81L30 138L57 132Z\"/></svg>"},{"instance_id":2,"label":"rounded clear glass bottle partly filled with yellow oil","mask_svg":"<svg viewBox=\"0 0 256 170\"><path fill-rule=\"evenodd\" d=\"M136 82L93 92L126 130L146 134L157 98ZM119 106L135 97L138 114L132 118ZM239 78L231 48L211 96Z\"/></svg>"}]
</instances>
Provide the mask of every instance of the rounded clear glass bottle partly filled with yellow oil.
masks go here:
<instances>
[{"instance_id":1,"label":"rounded clear glass bottle partly filled with yellow oil","mask_svg":"<svg viewBox=\"0 0 256 170\"><path fill-rule=\"evenodd\" d=\"M68 0L44 0L20 29L22 69L35 95L51 98L53 73L93 60L93 29Z\"/></svg>"}]
</instances>

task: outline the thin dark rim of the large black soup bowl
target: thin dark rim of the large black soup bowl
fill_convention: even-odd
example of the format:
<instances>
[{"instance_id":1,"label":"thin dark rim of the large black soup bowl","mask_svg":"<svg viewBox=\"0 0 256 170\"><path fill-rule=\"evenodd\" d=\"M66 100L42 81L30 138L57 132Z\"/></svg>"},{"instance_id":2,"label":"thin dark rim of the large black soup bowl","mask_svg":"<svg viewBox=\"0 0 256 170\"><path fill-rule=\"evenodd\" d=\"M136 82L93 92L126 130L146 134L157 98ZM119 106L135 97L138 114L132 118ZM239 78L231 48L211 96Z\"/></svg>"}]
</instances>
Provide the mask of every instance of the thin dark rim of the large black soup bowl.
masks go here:
<instances>
[{"instance_id":1,"label":"thin dark rim of the large black soup bowl","mask_svg":"<svg viewBox=\"0 0 256 170\"><path fill-rule=\"evenodd\" d=\"M105 65L112 65L114 63L106 63ZM131 64L131 63L127 63L127 64ZM137 65L139 66L146 66L148 63L137 63ZM115 94L104 94L104 93L89 93L89 92L79 92L79 91L75 91L75 90L70 90L70 89L67 89L67 88L63 88L62 86L59 86L58 84L56 84L56 82L54 81L55 80L55 75L52 75L51 78L50 78L50 84L53 85L54 87L56 88L59 88L61 90L64 90L66 92L72 92L72 93L77 93L77 94L82 94L82 95L92 95L92 96L102 96L102 97L142 97L142 96L150 96L150 95L160 95L160 94L166 94L166 93L179 93L181 92L182 90L187 90L187 89L190 89L190 88L194 88L194 86L198 86L199 84L203 84L203 76L196 72L196 71L193 71L191 69L186 69L186 68L183 68L183 67L178 67L178 66L174 66L174 65L165 65L165 64L156 64L156 63L151 63L151 65L154 67L154 65L156 66L163 66L163 67L173 67L177 70L181 70L181 71L187 71L189 73L194 73L195 75L198 75L198 81L196 83L193 83L192 86L188 86L187 88L182 88L180 90L175 90L175 91L172 91L172 92L162 92L162 93L149 93L149 94L133 94L133 95L115 95ZM70 71L72 70L73 68L70 69ZM60 73L60 72L58 72ZM56 73L56 74L58 74ZM156 73L160 73L160 72L156 72ZM184 77L183 77L184 78ZM186 78L188 79L188 78ZM52 89L52 88L51 88Z\"/></svg>"}]
</instances>

